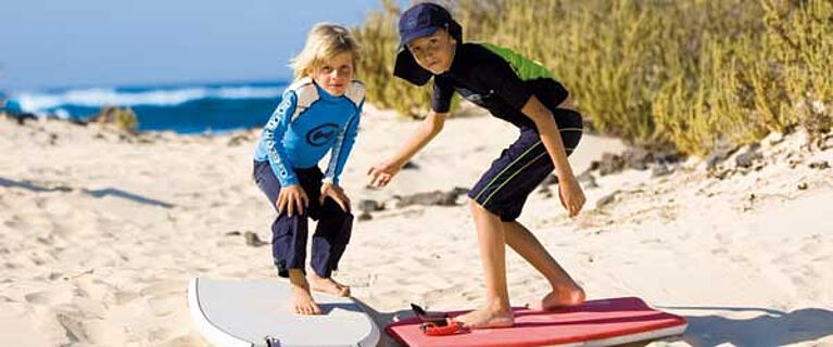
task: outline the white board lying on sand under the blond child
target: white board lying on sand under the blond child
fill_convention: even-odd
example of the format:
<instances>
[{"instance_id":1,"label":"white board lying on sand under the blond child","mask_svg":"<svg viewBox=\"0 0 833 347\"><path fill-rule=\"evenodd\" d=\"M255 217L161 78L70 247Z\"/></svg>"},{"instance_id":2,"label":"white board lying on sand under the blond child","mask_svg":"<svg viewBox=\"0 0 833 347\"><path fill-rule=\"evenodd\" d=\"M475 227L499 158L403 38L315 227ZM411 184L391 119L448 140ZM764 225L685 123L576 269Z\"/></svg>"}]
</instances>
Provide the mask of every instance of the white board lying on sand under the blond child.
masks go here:
<instances>
[{"instance_id":1,"label":"white board lying on sand under the blond child","mask_svg":"<svg viewBox=\"0 0 833 347\"><path fill-rule=\"evenodd\" d=\"M188 288L191 318L219 347L370 347L380 332L356 301L313 293L323 314L290 310L289 283L280 280L195 278Z\"/></svg>"}]
</instances>

